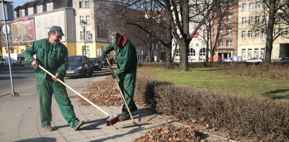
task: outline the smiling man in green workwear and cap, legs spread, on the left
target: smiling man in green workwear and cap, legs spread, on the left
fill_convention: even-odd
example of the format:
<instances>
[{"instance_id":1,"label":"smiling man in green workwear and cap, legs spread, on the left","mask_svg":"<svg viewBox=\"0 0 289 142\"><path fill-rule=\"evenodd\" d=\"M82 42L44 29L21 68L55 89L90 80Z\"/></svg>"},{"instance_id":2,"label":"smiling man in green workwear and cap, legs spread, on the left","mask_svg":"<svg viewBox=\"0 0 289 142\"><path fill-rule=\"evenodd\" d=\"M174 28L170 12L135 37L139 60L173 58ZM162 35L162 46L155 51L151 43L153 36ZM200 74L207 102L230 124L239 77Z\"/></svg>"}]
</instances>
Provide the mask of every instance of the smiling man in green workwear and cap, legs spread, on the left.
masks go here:
<instances>
[{"instance_id":1,"label":"smiling man in green workwear and cap, legs spread, on the left","mask_svg":"<svg viewBox=\"0 0 289 142\"><path fill-rule=\"evenodd\" d=\"M79 121L75 116L65 86L57 81L57 79L64 80L68 69L68 49L60 43L64 34L61 27L53 26L48 36L47 39L34 41L32 46L24 52L26 60L34 66L36 72L41 127L46 131L53 131L53 127L51 127L51 98L54 93L63 117L70 124L70 127L78 130L84 122ZM34 54L36 54L36 59L33 57ZM44 70L39 68L39 65L49 70L56 78L46 74Z\"/></svg>"}]
</instances>

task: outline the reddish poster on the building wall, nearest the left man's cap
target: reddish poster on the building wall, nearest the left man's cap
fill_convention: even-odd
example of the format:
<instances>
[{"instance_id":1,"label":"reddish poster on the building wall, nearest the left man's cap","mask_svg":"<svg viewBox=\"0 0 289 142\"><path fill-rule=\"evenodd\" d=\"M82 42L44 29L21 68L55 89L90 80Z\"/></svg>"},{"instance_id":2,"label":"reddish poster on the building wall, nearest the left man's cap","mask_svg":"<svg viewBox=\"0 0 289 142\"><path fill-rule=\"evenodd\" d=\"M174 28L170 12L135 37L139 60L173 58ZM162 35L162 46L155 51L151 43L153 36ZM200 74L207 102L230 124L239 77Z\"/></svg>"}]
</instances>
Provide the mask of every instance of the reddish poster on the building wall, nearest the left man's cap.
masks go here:
<instances>
[{"instance_id":1,"label":"reddish poster on the building wall, nearest the left man's cap","mask_svg":"<svg viewBox=\"0 0 289 142\"><path fill-rule=\"evenodd\" d=\"M21 31L23 42L34 41L34 23L33 20L21 22Z\"/></svg>"}]
</instances>

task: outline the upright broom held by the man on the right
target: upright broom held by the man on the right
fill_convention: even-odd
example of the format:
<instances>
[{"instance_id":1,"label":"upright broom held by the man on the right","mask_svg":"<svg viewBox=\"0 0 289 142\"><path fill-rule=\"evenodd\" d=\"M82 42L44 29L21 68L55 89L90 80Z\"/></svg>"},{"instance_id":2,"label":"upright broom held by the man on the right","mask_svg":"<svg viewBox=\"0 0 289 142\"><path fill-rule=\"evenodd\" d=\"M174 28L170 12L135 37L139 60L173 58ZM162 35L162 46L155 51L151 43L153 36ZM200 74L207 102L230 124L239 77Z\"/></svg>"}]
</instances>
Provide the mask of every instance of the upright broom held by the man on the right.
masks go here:
<instances>
[{"instance_id":1,"label":"upright broom held by the man on the right","mask_svg":"<svg viewBox=\"0 0 289 142\"><path fill-rule=\"evenodd\" d=\"M108 61L108 58L107 58L106 56L105 56L105 59L106 59L106 61L108 62L108 65L110 66L111 73L114 74L114 72L113 72L113 67L111 67L110 62ZM127 111L129 112L129 116L131 117L131 120L132 120L132 123L130 123L130 124L123 124L122 126L120 126L120 127L118 127L118 128L119 128L119 129L123 129L123 128L128 128L128 127L136 127L136 126L141 126L141 125L144 125L144 124L148 124L148 122L138 122L138 123L136 123L136 122L134 121L134 117L132 117L132 115L131 115L131 111L129 110L129 106L127 105L127 102L125 101L124 94L122 93L122 90L120 89L120 84L118 84L116 78L115 78L115 83L117 84L117 88L118 88L118 90L119 90L120 93L121 93L122 100L124 101L124 105L125 105L125 107L127 108Z\"/></svg>"}]
</instances>

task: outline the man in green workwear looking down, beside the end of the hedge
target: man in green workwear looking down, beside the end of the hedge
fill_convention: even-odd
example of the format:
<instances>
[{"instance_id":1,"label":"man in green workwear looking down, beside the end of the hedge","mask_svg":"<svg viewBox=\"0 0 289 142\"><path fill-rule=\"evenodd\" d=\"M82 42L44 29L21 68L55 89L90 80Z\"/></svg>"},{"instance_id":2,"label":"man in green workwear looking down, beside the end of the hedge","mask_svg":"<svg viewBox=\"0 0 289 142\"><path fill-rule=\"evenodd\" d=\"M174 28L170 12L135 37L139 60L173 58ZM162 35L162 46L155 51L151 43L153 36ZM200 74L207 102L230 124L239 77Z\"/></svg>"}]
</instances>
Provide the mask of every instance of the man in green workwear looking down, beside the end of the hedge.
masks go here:
<instances>
[{"instance_id":1,"label":"man in green workwear looking down, beside the end of the hedge","mask_svg":"<svg viewBox=\"0 0 289 142\"><path fill-rule=\"evenodd\" d=\"M110 34L111 44L103 51L103 56L107 56L110 51L115 50L118 70L113 75L113 78L120 78L120 89L124 94L125 101L129 106L129 110L135 111L136 103L134 103L134 89L136 86L136 48L124 34L112 32ZM122 107L122 116L120 121L129 120L129 112L125 105Z\"/></svg>"}]
</instances>

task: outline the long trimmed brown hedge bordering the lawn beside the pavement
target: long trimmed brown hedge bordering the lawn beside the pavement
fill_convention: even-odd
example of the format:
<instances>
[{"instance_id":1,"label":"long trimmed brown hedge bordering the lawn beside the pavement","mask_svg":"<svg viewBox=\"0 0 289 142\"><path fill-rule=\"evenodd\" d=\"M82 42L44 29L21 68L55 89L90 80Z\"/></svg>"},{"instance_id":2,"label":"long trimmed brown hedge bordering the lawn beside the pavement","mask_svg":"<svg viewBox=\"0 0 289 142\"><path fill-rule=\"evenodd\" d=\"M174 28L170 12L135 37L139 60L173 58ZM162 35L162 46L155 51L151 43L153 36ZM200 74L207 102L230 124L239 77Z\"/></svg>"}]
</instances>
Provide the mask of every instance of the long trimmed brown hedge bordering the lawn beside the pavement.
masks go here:
<instances>
[{"instance_id":1,"label":"long trimmed brown hedge bordering the lawn beside the pavement","mask_svg":"<svg viewBox=\"0 0 289 142\"><path fill-rule=\"evenodd\" d=\"M188 123L197 120L200 124L229 130L232 136L289 141L288 101L231 96L141 75L136 82L135 101Z\"/></svg>"}]
</instances>

